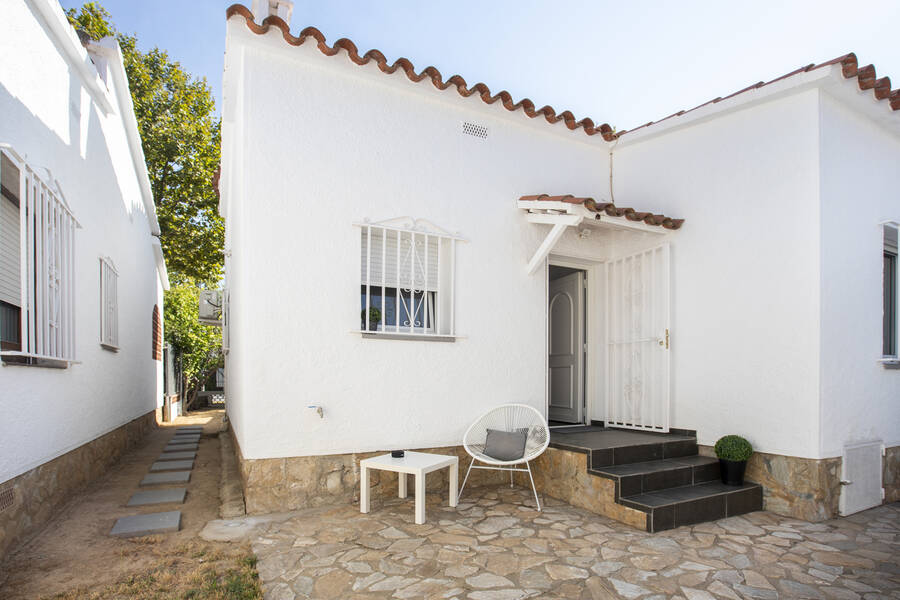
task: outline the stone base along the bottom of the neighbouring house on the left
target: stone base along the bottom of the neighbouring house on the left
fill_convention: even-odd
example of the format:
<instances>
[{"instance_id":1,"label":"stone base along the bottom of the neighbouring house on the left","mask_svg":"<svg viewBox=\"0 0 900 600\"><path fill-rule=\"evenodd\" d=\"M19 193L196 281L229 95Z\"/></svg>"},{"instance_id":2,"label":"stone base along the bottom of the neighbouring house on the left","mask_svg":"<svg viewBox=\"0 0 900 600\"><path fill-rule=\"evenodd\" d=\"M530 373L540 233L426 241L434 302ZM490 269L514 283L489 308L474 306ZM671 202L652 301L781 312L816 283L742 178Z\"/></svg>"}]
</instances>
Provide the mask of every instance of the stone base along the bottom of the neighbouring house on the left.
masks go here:
<instances>
[{"instance_id":1,"label":"stone base along the bottom of the neighbouring house on the left","mask_svg":"<svg viewBox=\"0 0 900 600\"><path fill-rule=\"evenodd\" d=\"M156 427L156 411L0 483L0 558ZM9 505L11 499L12 504ZM6 508L3 508L3 507Z\"/></svg>"}]
</instances>

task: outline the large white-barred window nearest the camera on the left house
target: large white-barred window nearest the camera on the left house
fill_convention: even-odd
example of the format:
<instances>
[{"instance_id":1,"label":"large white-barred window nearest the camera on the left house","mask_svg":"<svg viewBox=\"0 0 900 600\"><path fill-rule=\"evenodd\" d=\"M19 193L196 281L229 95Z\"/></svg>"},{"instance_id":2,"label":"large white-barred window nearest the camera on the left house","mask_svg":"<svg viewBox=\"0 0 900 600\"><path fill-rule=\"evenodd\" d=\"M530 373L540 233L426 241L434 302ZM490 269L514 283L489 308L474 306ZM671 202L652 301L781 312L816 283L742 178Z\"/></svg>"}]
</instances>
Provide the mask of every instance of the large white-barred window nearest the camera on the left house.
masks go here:
<instances>
[{"instance_id":1,"label":"large white-barred window nearest the camera on the left house","mask_svg":"<svg viewBox=\"0 0 900 600\"><path fill-rule=\"evenodd\" d=\"M0 301L5 361L75 360L74 247L78 222L57 185L0 148ZM18 222L18 227L16 227ZM16 333L6 331L18 321ZM8 338L15 338L10 341ZM36 359L32 361L31 359Z\"/></svg>"}]
</instances>

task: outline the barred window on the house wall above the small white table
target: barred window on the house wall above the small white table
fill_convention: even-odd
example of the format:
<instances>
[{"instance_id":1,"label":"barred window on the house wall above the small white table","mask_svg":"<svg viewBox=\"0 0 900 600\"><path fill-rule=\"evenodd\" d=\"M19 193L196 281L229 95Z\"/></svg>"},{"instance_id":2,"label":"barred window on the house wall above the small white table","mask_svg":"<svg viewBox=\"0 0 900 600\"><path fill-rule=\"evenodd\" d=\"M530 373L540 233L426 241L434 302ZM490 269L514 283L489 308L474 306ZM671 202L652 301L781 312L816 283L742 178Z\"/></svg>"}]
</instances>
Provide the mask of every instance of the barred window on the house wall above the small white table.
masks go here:
<instances>
[{"instance_id":1,"label":"barred window on the house wall above the small white table","mask_svg":"<svg viewBox=\"0 0 900 600\"><path fill-rule=\"evenodd\" d=\"M456 337L456 244L423 219L360 228L360 331L415 338Z\"/></svg>"}]
</instances>

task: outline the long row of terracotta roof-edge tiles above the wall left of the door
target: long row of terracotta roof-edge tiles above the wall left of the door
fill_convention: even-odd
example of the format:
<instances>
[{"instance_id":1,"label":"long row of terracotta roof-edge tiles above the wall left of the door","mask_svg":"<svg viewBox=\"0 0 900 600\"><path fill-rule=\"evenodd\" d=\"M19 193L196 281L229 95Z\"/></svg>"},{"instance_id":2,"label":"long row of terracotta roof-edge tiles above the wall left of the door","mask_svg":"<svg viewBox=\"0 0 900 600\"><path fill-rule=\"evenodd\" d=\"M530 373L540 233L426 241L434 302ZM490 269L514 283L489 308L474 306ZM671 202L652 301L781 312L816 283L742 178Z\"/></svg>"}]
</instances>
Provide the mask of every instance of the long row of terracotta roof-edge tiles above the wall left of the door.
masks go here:
<instances>
[{"instance_id":1,"label":"long row of terracotta roof-edge tiles above the wall left of the door","mask_svg":"<svg viewBox=\"0 0 900 600\"><path fill-rule=\"evenodd\" d=\"M268 32L269 29L274 27L281 30L281 35L284 38L284 41L286 41L288 44L291 44L292 46L301 46L306 42L307 39L310 39L311 41L315 42L316 47L325 56L335 56L341 50L344 50L350 60L360 66L366 65L371 61L375 61L375 64L378 66L378 68L383 73L386 73L388 75L395 73L398 69L400 69L413 83L419 83L424 79L430 79L434 87L439 90L446 90L451 86L455 87L456 91L463 98L468 98L469 96L477 94L485 104L491 105L496 102L500 102L503 107L510 112L516 112L517 110L521 109L522 112L525 113L525 115L532 119L543 116L544 119L546 119L546 121L550 124L555 124L559 121L563 121L566 127L568 127L572 131L582 129L587 135L592 136L599 134L603 137L604 140L608 142L616 139L615 132L607 123L595 125L594 121L590 118L584 118L579 121L576 120L575 115L568 110L557 114L556 110L552 106L535 108L534 102L532 102L528 98L523 98L518 102L514 102L512 95L506 90L498 92L495 95L491 95L490 88L488 88L488 86L484 83L476 83L475 85L469 87L466 84L466 80L463 79L460 75L453 75L452 77L447 79L447 81L444 81L441 72L438 71L437 68L431 66L425 67L420 73L416 73L415 66L412 64L412 62L409 61L409 59L398 58L396 61L394 61L393 64L388 64L387 58L379 50L369 50L368 52L360 56L359 51L356 48L356 44L354 44L347 38L341 38L337 40L332 46L329 46L325 42L325 36L322 35L322 32L315 27L306 27L300 32L299 35L294 36L291 34L288 24L277 16L268 16L263 20L262 24L257 24L253 20L253 13L250 12L250 9L242 4L232 4L225 11L225 18L230 19L235 15L244 17L247 27L250 29L250 31L257 35L262 35Z\"/></svg>"}]
</instances>

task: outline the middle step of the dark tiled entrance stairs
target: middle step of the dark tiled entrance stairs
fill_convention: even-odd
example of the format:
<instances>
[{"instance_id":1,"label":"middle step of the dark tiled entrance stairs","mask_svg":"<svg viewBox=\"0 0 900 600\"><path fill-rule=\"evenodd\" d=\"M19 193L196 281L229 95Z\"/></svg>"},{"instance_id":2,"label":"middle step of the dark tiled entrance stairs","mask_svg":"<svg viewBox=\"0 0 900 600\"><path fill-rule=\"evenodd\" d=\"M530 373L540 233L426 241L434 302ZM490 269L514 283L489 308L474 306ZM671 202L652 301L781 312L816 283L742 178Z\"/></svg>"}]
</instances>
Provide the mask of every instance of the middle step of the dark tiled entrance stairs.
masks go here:
<instances>
[{"instance_id":1,"label":"middle step of the dark tiled entrance stairs","mask_svg":"<svg viewBox=\"0 0 900 600\"><path fill-rule=\"evenodd\" d=\"M588 469L616 482L616 499L719 479L719 461L707 456L682 456Z\"/></svg>"}]
</instances>

